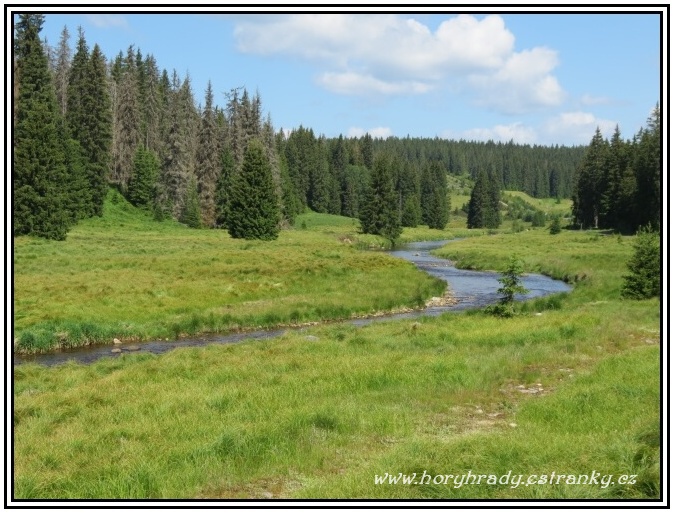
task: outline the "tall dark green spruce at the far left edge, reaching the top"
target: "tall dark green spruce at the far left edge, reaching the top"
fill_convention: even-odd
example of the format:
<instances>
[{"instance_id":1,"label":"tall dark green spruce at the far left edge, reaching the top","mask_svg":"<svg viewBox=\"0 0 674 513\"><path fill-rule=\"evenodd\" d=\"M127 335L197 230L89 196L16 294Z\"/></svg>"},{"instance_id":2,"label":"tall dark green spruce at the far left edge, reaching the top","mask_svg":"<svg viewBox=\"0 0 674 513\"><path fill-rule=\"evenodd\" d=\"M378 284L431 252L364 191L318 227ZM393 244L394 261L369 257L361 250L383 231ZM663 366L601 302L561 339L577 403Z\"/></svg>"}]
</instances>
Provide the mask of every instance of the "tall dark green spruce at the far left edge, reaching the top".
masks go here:
<instances>
[{"instance_id":1,"label":"tall dark green spruce at the far left edge, reaching the top","mask_svg":"<svg viewBox=\"0 0 674 513\"><path fill-rule=\"evenodd\" d=\"M59 107L39 38L43 23L43 15L20 14L16 25L13 233L63 240L76 219L68 208L77 191L66 169Z\"/></svg>"}]
</instances>

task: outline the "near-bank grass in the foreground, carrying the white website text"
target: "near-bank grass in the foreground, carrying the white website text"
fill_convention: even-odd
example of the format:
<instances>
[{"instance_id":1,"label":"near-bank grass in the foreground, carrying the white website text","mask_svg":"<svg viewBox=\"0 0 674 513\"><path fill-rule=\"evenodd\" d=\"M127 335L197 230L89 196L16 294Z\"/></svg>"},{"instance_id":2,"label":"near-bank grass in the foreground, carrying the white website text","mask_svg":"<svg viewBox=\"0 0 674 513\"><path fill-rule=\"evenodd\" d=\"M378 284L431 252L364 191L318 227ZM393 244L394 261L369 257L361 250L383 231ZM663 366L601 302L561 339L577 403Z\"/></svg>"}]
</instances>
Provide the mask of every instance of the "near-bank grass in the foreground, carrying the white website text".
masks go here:
<instances>
[{"instance_id":1,"label":"near-bank grass in the foreground, carrying the white website text","mask_svg":"<svg viewBox=\"0 0 674 513\"><path fill-rule=\"evenodd\" d=\"M15 495L657 498L660 302L618 298L629 239L540 230L441 253L500 268L513 251L527 270L573 277L576 289L512 319L474 312L331 325L158 357L15 368ZM435 479L469 471L565 478ZM566 478L593 472L613 484ZM434 479L375 484L385 473ZM634 477L618 482L624 475Z\"/></svg>"}]
</instances>

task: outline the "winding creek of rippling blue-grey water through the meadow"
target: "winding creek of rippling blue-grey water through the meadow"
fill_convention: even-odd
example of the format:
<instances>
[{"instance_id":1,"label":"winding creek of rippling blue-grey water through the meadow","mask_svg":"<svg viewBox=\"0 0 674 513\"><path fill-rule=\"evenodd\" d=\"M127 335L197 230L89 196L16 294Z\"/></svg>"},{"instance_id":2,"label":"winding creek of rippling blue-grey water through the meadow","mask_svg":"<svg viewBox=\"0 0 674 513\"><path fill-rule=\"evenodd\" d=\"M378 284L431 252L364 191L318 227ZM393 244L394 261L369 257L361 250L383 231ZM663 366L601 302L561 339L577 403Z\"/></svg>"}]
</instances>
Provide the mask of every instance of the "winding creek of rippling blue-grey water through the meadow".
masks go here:
<instances>
[{"instance_id":1,"label":"winding creek of rippling blue-grey water through the meadow","mask_svg":"<svg viewBox=\"0 0 674 513\"><path fill-rule=\"evenodd\" d=\"M391 251L390 254L408 260L414 263L419 269L445 280L454 297L458 300L457 304L452 306L433 306L424 310L391 314L381 317L368 319L354 319L349 321L357 326L364 326L373 322L393 319L409 319L420 316L436 316L445 312L461 311L470 308L480 308L494 303L499 299L496 292L501 284L498 282L499 273L466 271L457 269L448 260L434 257L430 251L445 245L448 241L430 241L415 242L407 244L401 249ZM566 283L553 280L547 276L539 274L529 274L523 277L523 285L529 290L526 296L518 299L530 299L541 297L559 292L568 292L571 287ZM218 334L210 336L199 336L195 338L185 338L175 341L153 341L143 342L141 344L121 344L118 347L123 353L131 350L139 350L154 354L161 354L179 347L198 347L207 344L234 344L243 340L251 339L270 339L278 337L289 330L300 330L306 328L282 328L261 330L246 333ZM65 363L69 360L75 360L79 363L92 363L103 357L117 357L120 353L111 353L112 346L89 346L76 349L68 349L47 354L37 355L14 355L13 363L18 365L26 362L34 362L40 365L52 366Z\"/></svg>"}]
</instances>

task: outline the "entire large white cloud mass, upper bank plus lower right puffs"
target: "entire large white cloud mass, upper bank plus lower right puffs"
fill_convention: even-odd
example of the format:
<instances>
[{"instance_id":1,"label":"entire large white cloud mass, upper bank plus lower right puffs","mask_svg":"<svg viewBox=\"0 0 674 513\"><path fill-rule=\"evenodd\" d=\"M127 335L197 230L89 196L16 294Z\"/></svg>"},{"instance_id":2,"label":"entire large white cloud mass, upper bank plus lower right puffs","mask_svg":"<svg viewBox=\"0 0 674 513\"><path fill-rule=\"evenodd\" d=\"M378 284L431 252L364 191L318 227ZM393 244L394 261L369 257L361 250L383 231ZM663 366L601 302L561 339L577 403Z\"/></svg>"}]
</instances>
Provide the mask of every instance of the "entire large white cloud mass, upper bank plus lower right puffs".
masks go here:
<instances>
[{"instance_id":1,"label":"entire large white cloud mass, upper bank plus lower right puffs","mask_svg":"<svg viewBox=\"0 0 674 513\"><path fill-rule=\"evenodd\" d=\"M245 18L238 49L297 57L316 82L344 95L461 91L483 107L516 114L560 105L557 52L515 52L503 18L449 17L436 30L404 14L293 14Z\"/></svg>"}]
</instances>

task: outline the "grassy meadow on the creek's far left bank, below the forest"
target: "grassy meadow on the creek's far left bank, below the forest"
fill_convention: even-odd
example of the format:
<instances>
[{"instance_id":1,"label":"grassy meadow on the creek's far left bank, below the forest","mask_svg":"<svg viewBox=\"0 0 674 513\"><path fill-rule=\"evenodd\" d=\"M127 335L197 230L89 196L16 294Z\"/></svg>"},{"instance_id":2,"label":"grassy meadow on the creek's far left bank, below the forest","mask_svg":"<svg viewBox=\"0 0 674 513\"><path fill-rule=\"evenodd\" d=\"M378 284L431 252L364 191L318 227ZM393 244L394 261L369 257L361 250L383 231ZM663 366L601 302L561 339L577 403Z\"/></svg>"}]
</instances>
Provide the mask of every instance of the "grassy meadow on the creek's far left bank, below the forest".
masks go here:
<instances>
[{"instance_id":1,"label":"grassy meadow on the creek's far left bank, below the forest","mask_svg":"<svg viewBox=\"0 0 674 513\"><path fill-rule=\"evenodd\" d=\"M14 239L19 351L300 324L422 306L445 284L306 214L273 242L157 223L111 192L65 242Z\"/></svg>"}]
</instances>

